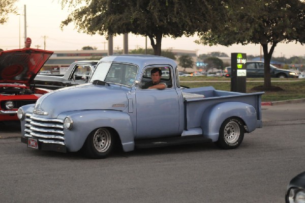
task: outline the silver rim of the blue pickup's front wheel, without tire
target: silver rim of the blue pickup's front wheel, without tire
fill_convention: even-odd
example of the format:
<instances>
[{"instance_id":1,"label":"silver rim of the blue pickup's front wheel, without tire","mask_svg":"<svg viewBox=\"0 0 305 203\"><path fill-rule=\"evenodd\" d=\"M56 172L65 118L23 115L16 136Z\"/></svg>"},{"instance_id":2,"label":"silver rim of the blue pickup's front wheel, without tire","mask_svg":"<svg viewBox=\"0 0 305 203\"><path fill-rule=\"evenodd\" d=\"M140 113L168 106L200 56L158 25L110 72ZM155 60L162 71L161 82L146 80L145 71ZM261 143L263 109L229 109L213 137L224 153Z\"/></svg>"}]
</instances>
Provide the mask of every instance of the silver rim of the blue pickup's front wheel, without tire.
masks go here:
<instances>
[{"instance_id":1,"label":"silver rim of the blue pickup's front wheel, without tire","mask_svg":"<svg viewBox=\"0 0 305 203\"><path fill-rule=\"evenodd\" d=\"M111 134L106 128L98 129L93 136L93 145L98 152L106 152L111 146Z\"/></svg>"}]
</instances>

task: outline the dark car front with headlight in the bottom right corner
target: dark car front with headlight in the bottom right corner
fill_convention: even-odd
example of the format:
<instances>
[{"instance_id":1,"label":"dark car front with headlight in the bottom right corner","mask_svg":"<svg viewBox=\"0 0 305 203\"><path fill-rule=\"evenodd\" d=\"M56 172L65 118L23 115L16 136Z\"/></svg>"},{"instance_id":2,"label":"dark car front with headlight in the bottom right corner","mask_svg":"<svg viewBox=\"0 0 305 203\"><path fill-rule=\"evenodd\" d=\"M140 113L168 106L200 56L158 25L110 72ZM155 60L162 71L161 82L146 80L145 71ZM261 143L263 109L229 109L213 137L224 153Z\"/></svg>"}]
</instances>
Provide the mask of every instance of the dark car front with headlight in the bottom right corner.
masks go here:
<instances>
[{"instance_id":1,"label":"dark car front with headlight in the bottom right corner","mask_svg":"<svg viewBox=\"0 0 305 203\"><path fill-rule=\"evenodd\" d=\"M288 184L285 202L298 203L305 200L305 171L294 177Z\"/></svg>"}]
</instances>

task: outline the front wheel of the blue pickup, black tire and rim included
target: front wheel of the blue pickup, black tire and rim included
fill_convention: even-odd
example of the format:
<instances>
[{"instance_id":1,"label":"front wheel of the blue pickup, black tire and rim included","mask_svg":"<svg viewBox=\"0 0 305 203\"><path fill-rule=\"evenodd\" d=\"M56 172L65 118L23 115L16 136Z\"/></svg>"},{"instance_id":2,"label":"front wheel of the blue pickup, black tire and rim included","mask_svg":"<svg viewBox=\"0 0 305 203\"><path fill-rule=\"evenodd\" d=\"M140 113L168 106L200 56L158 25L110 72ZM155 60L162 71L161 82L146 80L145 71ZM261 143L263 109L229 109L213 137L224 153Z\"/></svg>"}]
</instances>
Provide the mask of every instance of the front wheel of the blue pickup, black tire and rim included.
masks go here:
<instances>
[{"instance_id":1,"label":"front wheel of the blue pickup, black tire and rim included","mask_svg":"<svg viewBox=\"0 0 305 203\"><path fill-rule=\"evenodd\" d=\"M113 150L114 133L107 128L98 128L90 133L84 143L85 154L93 159L104 159Z\"/></svg>"}]
</instances>

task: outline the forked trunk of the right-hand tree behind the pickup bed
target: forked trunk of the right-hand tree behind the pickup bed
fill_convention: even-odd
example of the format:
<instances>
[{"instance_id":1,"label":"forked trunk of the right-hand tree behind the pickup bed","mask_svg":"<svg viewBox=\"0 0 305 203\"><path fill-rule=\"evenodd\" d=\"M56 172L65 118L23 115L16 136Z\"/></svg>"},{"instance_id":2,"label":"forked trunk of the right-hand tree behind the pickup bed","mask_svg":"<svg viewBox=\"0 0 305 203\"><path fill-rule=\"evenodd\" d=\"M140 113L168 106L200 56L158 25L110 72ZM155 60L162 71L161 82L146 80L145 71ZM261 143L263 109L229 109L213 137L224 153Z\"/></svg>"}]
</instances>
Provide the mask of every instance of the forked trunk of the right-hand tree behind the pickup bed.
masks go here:
<instances>
[{"instance_id":1,"label":"forked trunk of the right-hand tree behind the pickup bed","mask_svg":"<svg viewBox=\"0 0 305 203\"><path fill-rule=\"evenodd\" d=\"M261 44L261 46L263 47L264 52L264 89L268 90L271 88L270 62L277 43L272 44L269 52L268 44Z\"/></svg>"}]
</instances>

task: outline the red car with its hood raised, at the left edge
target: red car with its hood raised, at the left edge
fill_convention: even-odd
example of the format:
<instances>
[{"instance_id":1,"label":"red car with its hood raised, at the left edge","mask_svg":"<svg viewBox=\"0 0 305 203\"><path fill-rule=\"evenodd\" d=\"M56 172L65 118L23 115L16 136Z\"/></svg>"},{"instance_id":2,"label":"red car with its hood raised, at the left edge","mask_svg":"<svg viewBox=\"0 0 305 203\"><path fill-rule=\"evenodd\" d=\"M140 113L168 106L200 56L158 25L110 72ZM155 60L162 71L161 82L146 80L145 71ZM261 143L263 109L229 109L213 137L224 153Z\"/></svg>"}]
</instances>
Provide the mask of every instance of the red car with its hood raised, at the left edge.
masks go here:
<instances>
[{"instance_id":1,"label":"red car with its hood raised, at the left edge","mask_svg":"<svg viewBox=\"0 0 305 203\"><path fill-rule=\"evenodd\" d=\"M32 48L0 52L0 122L18 121L20 106L33 104L49 92L30 84L52 53Z\"/></svg>"}]
</instances>

